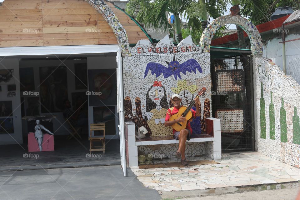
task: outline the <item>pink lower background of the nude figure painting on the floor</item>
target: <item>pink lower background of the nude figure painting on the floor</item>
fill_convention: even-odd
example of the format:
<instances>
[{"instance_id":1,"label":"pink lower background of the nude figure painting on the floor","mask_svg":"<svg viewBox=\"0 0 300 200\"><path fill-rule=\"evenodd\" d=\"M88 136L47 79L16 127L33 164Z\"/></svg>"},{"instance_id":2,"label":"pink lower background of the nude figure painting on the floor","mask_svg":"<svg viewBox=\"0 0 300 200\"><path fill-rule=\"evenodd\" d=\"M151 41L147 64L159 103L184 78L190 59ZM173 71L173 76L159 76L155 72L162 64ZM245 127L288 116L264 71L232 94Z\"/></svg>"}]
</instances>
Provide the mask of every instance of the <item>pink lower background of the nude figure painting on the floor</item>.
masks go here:
<instances>
[{"instance_id":1,"label":"pink lower background of the nude figure painting on the floor","mask_svg":"<svg viewBox=\"0 0 300 200\"><path fill-rule=\"evenodd\" d=\"M34 133L28 133L28 152L39 152L40 148ZM54 151L54 137L50 134L44 134L42 140L42 151Z\"/></svg>"}]
</instances>

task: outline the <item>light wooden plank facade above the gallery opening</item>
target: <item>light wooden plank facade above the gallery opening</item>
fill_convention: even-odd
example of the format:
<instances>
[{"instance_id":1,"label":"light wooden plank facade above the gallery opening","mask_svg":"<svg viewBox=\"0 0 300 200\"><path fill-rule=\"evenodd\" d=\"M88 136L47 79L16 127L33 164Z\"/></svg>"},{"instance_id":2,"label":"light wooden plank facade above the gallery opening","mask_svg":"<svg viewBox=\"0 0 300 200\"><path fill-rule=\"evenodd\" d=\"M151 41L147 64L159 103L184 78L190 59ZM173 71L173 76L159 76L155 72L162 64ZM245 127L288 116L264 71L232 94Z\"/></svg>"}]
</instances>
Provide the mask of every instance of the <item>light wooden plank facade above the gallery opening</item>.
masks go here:
<instances>
[{"instance_id":1,"label":"light wooden plank facade above the gallery opening","mask_svg":"<svg viewBox=\"0 0 300 200\"><path fill-rule=\"evenodd\" d=\"M147 39L124 12L108 2L129 43ZM0 6L0 47L118 44L101 14L85 0L6 0Z\"/></svg>"}]
</instances>

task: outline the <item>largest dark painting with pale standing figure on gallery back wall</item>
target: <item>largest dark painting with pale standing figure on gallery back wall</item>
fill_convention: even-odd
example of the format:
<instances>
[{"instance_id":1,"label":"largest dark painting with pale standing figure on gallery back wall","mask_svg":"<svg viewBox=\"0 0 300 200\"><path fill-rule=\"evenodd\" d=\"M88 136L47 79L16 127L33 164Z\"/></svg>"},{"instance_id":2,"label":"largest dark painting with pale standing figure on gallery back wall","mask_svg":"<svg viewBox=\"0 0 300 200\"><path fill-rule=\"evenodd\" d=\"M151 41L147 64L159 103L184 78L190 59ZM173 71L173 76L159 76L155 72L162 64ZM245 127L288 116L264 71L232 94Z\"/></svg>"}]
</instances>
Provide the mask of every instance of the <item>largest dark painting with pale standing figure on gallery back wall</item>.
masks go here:
<instances>
[{"instance_id":1,"label":"largest dark painting with pale standing figure on gallery back wall","mask_svg":"<svg viewBox=\"0 0 300 200\"><path fill-rule=\"evenodd\" d=\"M42 113L61 112L63 100L68 99L67 68L40 67Z\"/></svg>"}]
</instances>

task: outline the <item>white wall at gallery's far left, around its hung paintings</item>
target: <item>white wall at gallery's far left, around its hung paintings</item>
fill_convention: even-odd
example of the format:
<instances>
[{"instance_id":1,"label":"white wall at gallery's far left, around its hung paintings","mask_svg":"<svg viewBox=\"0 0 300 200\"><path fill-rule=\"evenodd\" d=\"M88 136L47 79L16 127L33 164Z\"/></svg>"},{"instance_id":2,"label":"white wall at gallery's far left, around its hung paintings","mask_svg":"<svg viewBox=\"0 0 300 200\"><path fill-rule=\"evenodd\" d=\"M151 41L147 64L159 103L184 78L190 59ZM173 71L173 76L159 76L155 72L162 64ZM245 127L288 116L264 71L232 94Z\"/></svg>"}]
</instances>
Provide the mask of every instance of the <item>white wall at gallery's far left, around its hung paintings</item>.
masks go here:
<instances>
[{"instance_id":1,"label":"white wall at gallery's far left, around its hung paintings","mask_svg":"<svg viewBox=\"0 0 300 200\"><path fill-rule=\"evenodd\" d=\"M0 101L12 101L12 117L14 133L0 134L0 144L17 144L23 143L22 126L21 126L21 101L20 101L20 84L19 84L19 59L4 58L1 59L0 69L14 69L14 84L16 84L16 97L7 97L7 84L1 83L2 91L0 92ZM1 117L6 118L6 117Z\"/></svg>"}]
</instances>

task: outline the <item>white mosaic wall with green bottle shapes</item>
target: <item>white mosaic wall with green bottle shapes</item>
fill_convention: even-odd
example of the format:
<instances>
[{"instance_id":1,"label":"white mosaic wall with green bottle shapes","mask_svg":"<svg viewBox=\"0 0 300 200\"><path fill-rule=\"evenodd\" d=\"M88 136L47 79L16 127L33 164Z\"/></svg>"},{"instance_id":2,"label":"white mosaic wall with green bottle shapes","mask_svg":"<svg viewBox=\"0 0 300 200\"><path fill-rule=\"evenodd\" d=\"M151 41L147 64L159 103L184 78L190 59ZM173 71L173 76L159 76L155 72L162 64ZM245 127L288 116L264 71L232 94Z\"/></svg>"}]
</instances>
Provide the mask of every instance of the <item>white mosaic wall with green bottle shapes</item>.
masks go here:
<instances>
[{"instance_id":1,"label":"white mosaic wall with green bottle shapes","mask_svg":"<svg viewBox=\"0 0 300 200\"><path fill-rule=\"evenodd\" d=\"M267 58L256 58L256 150L299 168L300 86Z\"/></svg>"}]
</instances>

